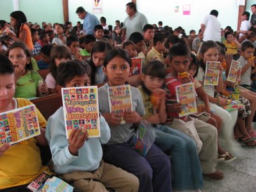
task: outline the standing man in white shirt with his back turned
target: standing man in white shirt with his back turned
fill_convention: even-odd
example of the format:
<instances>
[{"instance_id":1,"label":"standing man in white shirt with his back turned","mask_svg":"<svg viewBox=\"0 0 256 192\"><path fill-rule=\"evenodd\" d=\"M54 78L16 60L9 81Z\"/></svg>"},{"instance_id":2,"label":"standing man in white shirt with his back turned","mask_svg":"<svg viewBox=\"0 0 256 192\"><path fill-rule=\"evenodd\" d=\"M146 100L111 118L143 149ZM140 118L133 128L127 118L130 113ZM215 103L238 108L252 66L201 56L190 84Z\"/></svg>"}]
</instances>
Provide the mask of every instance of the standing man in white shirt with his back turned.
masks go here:
<instances>
[{"instance_id":1,"label":"standing man in white shirt with his back turned","mask_svg":"<svg viewBox=\"0 0 256 192\"><path fill-rule=\"evenodd\" d=\"M211 10L209 15L204 17L201 24L202 33L204 33L204 41L212 40L220 42L221 40L221 24L217 20L218 11Z\"/></svg>"}]
</instances>

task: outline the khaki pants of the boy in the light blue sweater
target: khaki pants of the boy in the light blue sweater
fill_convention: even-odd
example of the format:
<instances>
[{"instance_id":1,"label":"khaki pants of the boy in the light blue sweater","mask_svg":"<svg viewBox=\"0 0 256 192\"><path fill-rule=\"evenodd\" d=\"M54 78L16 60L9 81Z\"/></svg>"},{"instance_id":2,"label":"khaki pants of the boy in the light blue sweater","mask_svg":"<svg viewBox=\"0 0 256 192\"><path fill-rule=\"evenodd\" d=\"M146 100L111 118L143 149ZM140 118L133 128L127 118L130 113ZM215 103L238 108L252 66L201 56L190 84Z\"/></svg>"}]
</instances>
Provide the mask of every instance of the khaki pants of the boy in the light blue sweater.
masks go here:
<instances>
[{"instance_id":1,"label":"khaki pants of the boy in the light blue sweater","mask_svg":"<svg viewBox=\"0 0 256 192\"><path fill-rule=\"evenodd\" d=\"M93 172L75 171L61 175L61 178L70 182L79 191L107 191L112 188L116 191L138 191L139 180L112 164L100 162L100 166Z\"/></svg>"}]
</instances>

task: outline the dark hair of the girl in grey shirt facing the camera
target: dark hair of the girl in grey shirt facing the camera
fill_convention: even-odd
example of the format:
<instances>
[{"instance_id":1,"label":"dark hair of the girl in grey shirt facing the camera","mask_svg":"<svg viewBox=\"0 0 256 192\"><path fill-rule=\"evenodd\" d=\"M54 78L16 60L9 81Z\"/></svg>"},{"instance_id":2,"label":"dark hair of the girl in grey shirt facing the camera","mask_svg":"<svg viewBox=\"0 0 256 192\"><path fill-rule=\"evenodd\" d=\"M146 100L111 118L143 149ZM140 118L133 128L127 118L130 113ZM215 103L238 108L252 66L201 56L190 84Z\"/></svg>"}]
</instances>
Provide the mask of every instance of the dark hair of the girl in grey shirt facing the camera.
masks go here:
<instances>
[{"instance_id":1,"label":"dark hair of the girl in grey shirt facing the camera","mask_svg":"<svg viewBox=\"0 0 256 192\"><path fill-rule=\"evenodd\" d=\"M107 67L109 61L113 60L113 58L115 57L120 57L124 59L129 63L130 67L132 66L132 61L131 61L131 58L129 57L128 52L125 51L124 49L118 48L118 49L112 49L108 52L104 61L104 67Z\"/></svg>"}]
</instances>

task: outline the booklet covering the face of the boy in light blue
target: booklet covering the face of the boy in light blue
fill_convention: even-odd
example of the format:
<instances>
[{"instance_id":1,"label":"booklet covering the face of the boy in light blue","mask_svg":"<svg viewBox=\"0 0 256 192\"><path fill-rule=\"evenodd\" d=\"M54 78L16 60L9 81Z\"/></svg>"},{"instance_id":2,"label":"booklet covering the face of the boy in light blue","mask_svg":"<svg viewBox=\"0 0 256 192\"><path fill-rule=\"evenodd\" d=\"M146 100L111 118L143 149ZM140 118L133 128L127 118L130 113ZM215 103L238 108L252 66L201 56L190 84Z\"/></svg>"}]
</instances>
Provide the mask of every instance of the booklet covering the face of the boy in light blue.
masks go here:
<instances>
[{"instance_id":1,"label":"booklet covering the face of the boy in light blue","mask_svg":"<svg viewBox=\"0 0 256 192\"><path fill-rule=\"evenodd\" d=\"M67 139L74 129L88 132L88 138L100 137L97 86L62 88Z\"/></svg>"}]
</instances>

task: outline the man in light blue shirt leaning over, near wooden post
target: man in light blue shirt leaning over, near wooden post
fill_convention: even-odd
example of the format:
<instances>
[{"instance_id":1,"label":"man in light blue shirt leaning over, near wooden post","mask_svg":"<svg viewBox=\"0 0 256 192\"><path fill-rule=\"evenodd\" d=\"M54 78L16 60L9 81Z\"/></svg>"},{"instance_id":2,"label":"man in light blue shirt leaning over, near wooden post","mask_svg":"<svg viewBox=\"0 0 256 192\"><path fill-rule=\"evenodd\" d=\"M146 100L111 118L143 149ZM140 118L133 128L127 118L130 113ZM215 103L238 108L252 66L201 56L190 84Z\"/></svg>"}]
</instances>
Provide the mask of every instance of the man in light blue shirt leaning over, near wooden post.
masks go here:
<instances>
[{"instance_id":1,"label":"man in light blue shirt leaning over, near wooden post","mask_svg":"<svg viewBox=\"0 0 256 192\"><path fill-rule=\"evenodd\" d=\"M79 19L83 19L83 31L86 35L93 35L94 27L100 25L99 19L89 12L86 12L82 6L77 8L76 13Z\"/></svg>"}]
</instances>

